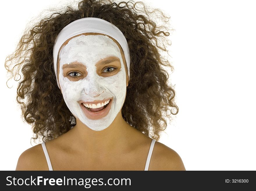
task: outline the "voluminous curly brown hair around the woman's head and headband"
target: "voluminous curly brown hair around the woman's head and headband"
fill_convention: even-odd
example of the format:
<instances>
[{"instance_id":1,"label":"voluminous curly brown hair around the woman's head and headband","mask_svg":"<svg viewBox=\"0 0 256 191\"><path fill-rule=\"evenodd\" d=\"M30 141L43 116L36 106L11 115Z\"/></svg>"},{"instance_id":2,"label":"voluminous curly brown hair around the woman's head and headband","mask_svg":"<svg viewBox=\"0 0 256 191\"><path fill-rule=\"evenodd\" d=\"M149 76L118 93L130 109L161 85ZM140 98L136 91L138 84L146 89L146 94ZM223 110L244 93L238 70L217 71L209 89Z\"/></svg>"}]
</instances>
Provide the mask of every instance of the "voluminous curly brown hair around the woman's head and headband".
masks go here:
<instances>
[{"instance_id":1,"label":"voluminous curly brown hair around the woman's head and headband","mask_svg":"<svg viewBox=\"0 0 256 191\"><path fill-rule=\"evenodd\" d=\"M51 13L25 30L15 52L6 58L5 67L11 74L8 80L20 80L17 102L25 121L32 124L34 141L38 136L43 141L54 139L76 125L57 86L53 47L66 25L84 17L104 19L124 34L131 63L122 117L145 135L159 140L161 131L166 129L166 119L171 119L170 113L176 115L179 108L174 102L175 91L168 84L168 72L163 69L166 66L173 71L173 66L160 54L160 50L167 51L166 44L171 45L166 38L170 33L161 31L166 26L157 26L149 13L170 18L159 9L150 12L141 1L117 4L112 0L83 0L78 3L78 9L67 6L63 12ZM176 112L170 108L176 108Z\"/></svg>"}]
</instances>

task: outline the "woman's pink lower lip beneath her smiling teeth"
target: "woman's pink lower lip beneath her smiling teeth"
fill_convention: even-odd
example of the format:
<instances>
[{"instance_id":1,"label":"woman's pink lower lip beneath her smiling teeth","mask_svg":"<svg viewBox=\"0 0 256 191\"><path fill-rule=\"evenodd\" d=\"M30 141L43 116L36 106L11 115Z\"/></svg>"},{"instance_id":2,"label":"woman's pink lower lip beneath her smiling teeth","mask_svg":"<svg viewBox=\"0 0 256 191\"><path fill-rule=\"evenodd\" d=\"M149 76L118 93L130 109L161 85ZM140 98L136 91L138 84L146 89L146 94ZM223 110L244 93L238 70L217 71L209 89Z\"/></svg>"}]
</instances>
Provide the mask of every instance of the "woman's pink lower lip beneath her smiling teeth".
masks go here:
<instances>
[{"instance_id":1,"label":"woman's pink lower lip beneath her smiling teeth","mask_svg":"<svg viewBox=\"0 0 256 191\"><path fill-rule=\"evenodd\" d=\"M109 100L109 99L107 99L107 100ZM107 100L106 100L106 101L107 101ZM79 105L80 105L80 107L82 108L83 113L86 115L86 117L88 117L89 119L95 120L95 119L100 119L100 118L105 117L106 115L108 115L109 110L111 109L111 106L112 106L112 100L113 100L113 98L110 99L108 106L107 106L106 108L104 108L103 110L99 111L98 113L95 113L95 112L92 112L92 111L87 110L87 109L82 105L83 102L79 103ZM86 103L88 103L88 102L86 102ZM89 102L89 103L90 103L90 102ZM92 102L92 103L93 103L93 102Z\"/></svg>"}]
</instances>

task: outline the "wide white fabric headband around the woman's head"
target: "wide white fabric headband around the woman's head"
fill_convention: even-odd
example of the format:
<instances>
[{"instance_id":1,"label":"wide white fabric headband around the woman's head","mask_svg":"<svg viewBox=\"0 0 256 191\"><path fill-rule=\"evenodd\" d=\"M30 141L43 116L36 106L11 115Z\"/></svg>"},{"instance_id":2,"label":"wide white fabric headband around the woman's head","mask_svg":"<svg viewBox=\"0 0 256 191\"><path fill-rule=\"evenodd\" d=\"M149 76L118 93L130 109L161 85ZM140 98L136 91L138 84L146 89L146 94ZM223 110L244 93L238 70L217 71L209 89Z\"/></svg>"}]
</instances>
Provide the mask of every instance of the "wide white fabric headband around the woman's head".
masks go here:
<instances>
[{"instance_id":1,"label":"wide white fabric headband around the woman's head","mask_svg":"<svg viewBox=\"0 0 256 191\"><path fill-rule=\"evenodd\" d=\"M58 34L55 40L55 44L53 47L53 64L59 88L60 85L58 83L57 78L57 58L59 49L67 39L82 33L102 33L114 38L120 44L124 51L125 60L127 63L128 77L130 78L130 51L127 44L127 40L123 35L122 31L120 31L119 28L117 28L115 25L111 24L110 22L104 19L99 19L96 17L87 17L75 20L72 23L65 26Z\"/></svg>"}]
</instances>

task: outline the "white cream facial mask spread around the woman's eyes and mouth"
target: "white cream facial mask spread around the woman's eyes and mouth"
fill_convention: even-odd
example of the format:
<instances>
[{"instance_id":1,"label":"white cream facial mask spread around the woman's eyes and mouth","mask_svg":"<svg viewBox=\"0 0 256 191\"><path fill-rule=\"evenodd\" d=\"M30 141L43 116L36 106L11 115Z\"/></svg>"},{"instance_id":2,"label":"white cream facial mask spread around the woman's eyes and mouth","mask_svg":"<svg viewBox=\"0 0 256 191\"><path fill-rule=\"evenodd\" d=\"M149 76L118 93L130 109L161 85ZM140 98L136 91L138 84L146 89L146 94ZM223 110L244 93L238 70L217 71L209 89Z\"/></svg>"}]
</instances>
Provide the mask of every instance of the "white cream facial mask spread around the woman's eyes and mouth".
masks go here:
<instances>
[{"instance_id":1,"label":"white cream facial mask spread around the woman's eyes and mouth","mask_svg":"<svg viewBox=\"0 0 256 191\"><path fill-rule=\"evenodd\" d=\"M99 76L96 72L95 64L108 56L119 58L121 69L113 76ZM101 131L109 127L121 110L126 95L125 66L117 44L105 35L79 35L63 46L59 53L59 59L60 87L64 101L71 113L92 130ZM75 61L86 66L87 76L78 78L80 79L78 81L71 81L63 76L62 67ZM111 66L111 63L109 65ZM69 71L72 71L72 69ZM82 74L79 75L81 76ZM97 95L99 96L96 97ZM112 103L109 113L99 119L86 117L81 105L78 103L79 100L89 102L111 97Z\"/></svg>"}]
</instances>

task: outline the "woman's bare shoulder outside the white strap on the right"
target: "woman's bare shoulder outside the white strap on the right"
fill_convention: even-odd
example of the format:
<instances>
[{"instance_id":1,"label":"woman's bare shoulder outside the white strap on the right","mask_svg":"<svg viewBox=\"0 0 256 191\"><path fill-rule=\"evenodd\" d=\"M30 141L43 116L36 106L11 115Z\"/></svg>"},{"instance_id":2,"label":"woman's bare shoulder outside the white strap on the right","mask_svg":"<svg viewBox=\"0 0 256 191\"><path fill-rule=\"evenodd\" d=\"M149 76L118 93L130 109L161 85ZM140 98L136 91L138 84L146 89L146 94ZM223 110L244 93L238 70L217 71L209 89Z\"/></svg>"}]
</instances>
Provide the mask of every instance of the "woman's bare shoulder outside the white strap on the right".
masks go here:
<instances>
[{"instance_id":1,"label":"woman's bare shoulder outside the white strap on the right","mask_svg":"<svg viewBox=\"0 0 256 191\"><path fill-rule=\"evenodd\" d=\"M155 142L149 170L186 170L179 154L166 145Z\"/></svg>"}]
</instances>

